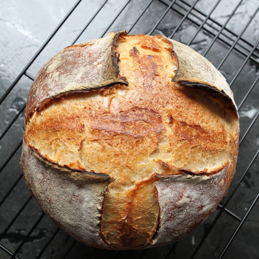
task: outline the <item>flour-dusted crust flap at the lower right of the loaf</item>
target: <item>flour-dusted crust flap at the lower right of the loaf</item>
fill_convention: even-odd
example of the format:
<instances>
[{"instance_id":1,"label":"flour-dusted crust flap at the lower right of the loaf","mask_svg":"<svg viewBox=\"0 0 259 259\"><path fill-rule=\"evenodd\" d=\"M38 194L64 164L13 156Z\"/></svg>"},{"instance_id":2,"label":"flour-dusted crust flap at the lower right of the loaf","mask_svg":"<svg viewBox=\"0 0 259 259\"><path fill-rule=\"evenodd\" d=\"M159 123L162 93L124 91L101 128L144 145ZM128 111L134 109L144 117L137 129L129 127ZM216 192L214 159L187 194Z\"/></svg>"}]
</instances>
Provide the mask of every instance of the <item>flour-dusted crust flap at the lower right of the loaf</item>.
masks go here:
<instances>
[{"instance_id":1,"label":"flour-dusted crust flap at the lower right of the loaf","mask_svg":"<svg viewBox=\"0 0 259 259\"><path fill-rule=\"evenodd\" d=\"M157 175L154 185L160 214L152 246L181 240L202 224L223 198L232 179L228 177L233 175L231 167L227 161L212 175Z\"/></svg>"}]
</instances>

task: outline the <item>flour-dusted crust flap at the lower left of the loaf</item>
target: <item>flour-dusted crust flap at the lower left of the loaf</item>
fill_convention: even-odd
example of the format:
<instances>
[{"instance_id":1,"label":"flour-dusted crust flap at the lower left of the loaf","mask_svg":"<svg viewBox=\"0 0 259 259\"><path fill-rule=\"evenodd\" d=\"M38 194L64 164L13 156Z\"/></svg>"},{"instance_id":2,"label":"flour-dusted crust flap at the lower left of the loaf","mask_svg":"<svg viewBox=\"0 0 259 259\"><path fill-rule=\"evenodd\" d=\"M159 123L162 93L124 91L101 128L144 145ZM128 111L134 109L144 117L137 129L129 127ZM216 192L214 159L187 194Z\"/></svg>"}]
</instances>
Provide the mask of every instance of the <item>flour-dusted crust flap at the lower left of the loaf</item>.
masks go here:
<instances>
[{"instance_id":1,"label":"flour-dusted crust flap at the lower left of the loaf","mask_svg":"<svg viewBox=\"0 0 259 259\"><path fill-rule=\"evenodd\" d=\"M31 195L58 227L85 244L110 249L99 226L109 175L50 163L25 141L21 167Z\"/></svg>"}]
</instances>

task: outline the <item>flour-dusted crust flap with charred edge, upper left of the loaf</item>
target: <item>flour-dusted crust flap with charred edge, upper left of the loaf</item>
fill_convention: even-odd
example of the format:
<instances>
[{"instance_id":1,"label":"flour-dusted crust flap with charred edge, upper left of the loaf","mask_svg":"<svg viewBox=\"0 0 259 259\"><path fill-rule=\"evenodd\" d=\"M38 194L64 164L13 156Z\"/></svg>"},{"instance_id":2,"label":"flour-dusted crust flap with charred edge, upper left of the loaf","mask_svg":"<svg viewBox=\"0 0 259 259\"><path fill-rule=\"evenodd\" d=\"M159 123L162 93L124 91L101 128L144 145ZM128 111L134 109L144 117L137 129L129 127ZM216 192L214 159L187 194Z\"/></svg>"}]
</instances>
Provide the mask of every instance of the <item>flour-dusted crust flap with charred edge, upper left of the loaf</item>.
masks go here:
<instances>
[{"instance_id":1,"label":"flour-dusted crust flap with charred edge, upper left of the loaf","mask_svg":"<svg viewBox=\"0 0 259 259\"><path fill-rule=\"evenodd\" d=\"M37 74L28 94L25 119L53 97L128 82L119 76L117 40L126 31L68 46L53 56ZM71 73L73 71L73 73Z\"/></svg>"}]
</instances>

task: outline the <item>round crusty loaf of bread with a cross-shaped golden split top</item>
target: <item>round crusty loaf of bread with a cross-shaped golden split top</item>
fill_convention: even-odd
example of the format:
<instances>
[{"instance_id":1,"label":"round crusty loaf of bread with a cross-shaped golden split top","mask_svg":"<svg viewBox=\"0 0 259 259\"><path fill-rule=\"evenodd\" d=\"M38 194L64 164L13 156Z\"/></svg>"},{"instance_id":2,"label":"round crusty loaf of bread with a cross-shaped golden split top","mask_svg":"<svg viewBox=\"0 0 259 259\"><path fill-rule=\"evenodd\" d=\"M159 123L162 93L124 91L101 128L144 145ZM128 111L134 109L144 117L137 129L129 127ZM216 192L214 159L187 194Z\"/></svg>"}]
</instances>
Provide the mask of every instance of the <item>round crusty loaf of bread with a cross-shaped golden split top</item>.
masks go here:
<instances>
[{"instance_id":1,"label":"round crusty loaf of bread with a cross-shaped golden split top","mask_svg":"<svg viewBox=\"0 0 259 259\"><path fill-rule=\"evenodd\" d=\"M221 73L161 35L111 32L65 48L29 92L21 166L63 231L98 248L182 239L235 172L239 121Z\"/></svg>"}]
</instances>

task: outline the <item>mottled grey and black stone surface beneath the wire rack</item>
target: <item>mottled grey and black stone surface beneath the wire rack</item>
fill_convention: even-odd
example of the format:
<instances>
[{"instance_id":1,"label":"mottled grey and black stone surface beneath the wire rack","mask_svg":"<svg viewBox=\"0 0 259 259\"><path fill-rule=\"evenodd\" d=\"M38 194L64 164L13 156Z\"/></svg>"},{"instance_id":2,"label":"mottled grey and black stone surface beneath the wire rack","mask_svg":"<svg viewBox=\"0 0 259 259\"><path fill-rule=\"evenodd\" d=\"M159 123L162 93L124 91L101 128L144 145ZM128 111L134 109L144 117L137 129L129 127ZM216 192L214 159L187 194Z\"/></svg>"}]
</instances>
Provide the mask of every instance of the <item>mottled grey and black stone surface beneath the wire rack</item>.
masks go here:
<instances>
[{"instance_id":1,"label":"mottled grey and black stone surface beneath the wire rack","mask_svg":"<svg viewBox=\"0 0 259 259\"><path fill-rule=\"evenodd\" d=\"M185 1L193 3L193 0ZM109 0L77 42L99 38L126 2L127 1L125 0ZM138 17L148 2L149 0L132 0L111 25L109 31L127 30L130 28L133 21ZM164 0L164 2L170 3L170 1L167 0ZM210 12L215 2L216 1L214 0L199 0L195 5L195 8L207 14ZM11 83L38 51L49 34L51 34L74 3L74 0L0 1L0 96L2 96L9 88ZM32 76L35 76L40 67L49 58L64 47L70 45L102 3L103 1L100 0L82 0L27 72ZM220 24L224 24L237 4L238 0L221 0L211 17ZM234 33L239 34L258 6L259 1L257 0L243 0L226 27ZM184 1L180 0L177 0L173 7L178 10L178 12L182 13L185 13L185 9L189 8L189 6L184 4ZM164 5L162 1L154 0L130 33L148 33L159 20L166 8L167 5ZM158 33L169 36L183 17L178 12L172 9L169 10L152 34ZM185 19L173 37L173 39L185 44L189 42L198 28L198 26L195 25L195 21L199 21L200 23L199 17L204 19L204 16L194 10L188 17L190 20ZM255 18L242 36L252 44L255 44L259 39L258 19L259 12L257 12ZM213 25L214 29L209 25ZM204 28L217 33L220 26L216 25L211 20L208 20ZM214 35L202 29L190 46L202 54L213 38ZM220 35L220 38L225 39L225 41L232 44L236 37L234 37L232 33L224 30L223 34ZM241 42L241 44L248 47L250 51L250 46L244 42ZM239 45L237 46L246 53L249 53L249 51L246 51ZM206 54L206 58L217 67L228 49L229 46L227 44L220 40L216 40L210 51ZM253 55L253 57L259 61L259 51L257 50L255 53L256 54ZM228 83L232 81L245 58L244 55L233 50L220 67L220 71L226 77ZM234 92L237 106L239 106L251 84L258 76L258 68L258 63L249 59L233 82L231 89ZM23 76L0 105L0 134L26 102L31 83L32 81L28 77ZM239 110L241 138L250 123L256 117L256 114L258 114L258 111L259 83L256 83L254 89ZM24 118L22 113L0 141L0 167L22 139L24 133L23 123ZM240 177L259 148L258 129L259 120L257 119L240 146L236 174L222 204L224 204L227 197L238 183ZM18 149L10 162L0 173L0 200L21 175L20 153L21 148ZM257 158L227 206L228 210L232 211L240 218L245 215L259 191L258 163L259 159ZM0 206L0 235L29 197L30 194L25 186L24 180L23 178L20 178L16 187ZM202 226L175 245L147 249L146 251L117 252L95 249L85 246L80 242L76 242L66 258L100 258L104 256L106 258L166 258L167 255L169 256L168 258L189 258L218 212L219 209L215 210ZM257 203L234 239L234 242L229 247L224 258L258 258L258 212L259 204ZM3 236L0 244L11 252L14 252L41 215L41 208L34 199L31 199L16 221L12 224L9 231ZM237 220L227 213L223 213L199 250L196 258L218 258L238 224L239 222ZM56 229L54 223L45 215L21 247L17 256L26 259L36 258ZM70 238L62 231L59 231L41 258L62 258L73 242L74 239ZM172 247L171 253L168 254ZM10 256L0 249L0 258L10 258Z\"/></svg>"}]
</instances>

